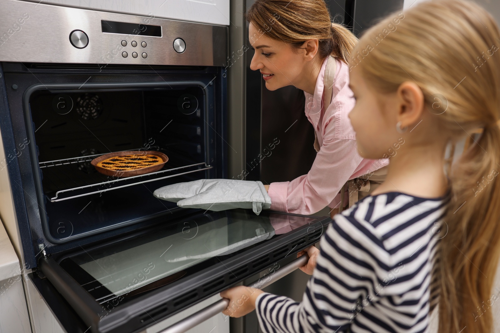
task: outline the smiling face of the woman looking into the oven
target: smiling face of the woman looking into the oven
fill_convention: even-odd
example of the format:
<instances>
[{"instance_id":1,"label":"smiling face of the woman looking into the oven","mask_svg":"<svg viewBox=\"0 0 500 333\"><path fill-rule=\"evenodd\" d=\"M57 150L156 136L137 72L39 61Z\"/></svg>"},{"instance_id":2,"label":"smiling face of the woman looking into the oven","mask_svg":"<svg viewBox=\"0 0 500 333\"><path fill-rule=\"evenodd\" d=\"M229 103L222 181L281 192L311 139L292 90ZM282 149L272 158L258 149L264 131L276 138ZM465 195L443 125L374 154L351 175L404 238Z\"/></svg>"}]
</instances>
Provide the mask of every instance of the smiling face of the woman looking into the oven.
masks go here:
<instances>
[{"instance_id":1,"label":"smiling face of the woman looking into the oven","mask_svg":"<svg viewBox=\"0 0 500 333\"><path fill-rule=\"evenodd\" d=\"M271 39L264 32L249 24L248 40L255 50L250 69L260 71L269 90L300 82L301 70L307 62L302 54L305 51L294 50L290 44Z\"/></svg>"}]
</instances>

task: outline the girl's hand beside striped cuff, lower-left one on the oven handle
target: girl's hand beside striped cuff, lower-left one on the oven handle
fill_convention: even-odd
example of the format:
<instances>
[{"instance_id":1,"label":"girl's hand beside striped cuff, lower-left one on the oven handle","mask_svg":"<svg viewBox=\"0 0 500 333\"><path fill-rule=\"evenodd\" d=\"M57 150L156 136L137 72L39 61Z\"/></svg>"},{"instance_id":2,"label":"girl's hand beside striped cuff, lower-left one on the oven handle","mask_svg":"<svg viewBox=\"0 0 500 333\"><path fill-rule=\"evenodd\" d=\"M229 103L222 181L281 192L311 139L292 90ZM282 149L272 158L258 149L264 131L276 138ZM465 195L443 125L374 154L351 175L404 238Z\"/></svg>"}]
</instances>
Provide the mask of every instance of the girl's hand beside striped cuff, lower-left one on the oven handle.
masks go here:
<instances>
[{"instance_id":1,"label":"girl's hand beside striped cuff, lower-left one on the oven handle","mask_svg":"<svg viewBox=\"0 0 500 333\"><path fill-rule=\"evenodd\" d=\"M255 310L255 300L263 291L245 286L233 287L220 293L229 305L222 311L226 316L239 318Z\"/></svg>"}]
</instances>

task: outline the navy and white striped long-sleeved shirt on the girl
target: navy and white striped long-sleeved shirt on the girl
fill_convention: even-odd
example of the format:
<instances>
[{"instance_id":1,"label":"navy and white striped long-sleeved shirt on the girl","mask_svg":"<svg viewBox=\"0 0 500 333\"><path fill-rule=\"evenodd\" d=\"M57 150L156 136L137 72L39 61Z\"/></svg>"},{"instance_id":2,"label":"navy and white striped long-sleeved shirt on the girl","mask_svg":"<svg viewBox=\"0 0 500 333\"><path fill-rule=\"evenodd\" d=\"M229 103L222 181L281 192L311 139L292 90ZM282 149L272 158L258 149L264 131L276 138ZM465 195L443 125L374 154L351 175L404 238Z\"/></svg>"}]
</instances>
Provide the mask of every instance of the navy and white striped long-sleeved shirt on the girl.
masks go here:
<instances>
[{"instance_id":1,"label":"navy and white striped long-sleeved shirt on the girl","mask_svg":"<svg viewBox=\"0 0 500 333\"><path fill-rule=\"evenodd\" d=\"M435 199L389 192L335 215L302 302L258 296L262 331L426 332L448 201L449 192Z\"/></svg>"}]
</instances>

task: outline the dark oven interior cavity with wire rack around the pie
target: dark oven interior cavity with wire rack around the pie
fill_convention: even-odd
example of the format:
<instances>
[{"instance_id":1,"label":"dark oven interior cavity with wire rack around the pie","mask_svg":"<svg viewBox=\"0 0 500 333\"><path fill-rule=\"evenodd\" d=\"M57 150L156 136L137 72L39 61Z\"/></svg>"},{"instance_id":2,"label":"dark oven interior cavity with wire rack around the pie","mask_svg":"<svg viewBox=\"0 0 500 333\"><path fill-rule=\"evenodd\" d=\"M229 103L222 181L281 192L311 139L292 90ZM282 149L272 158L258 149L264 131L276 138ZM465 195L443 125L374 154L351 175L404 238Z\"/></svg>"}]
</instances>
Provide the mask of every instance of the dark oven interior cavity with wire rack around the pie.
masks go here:
<instances>
[{"instance_id":1,"label":"dark oven interior cavity with wire rack around the pie","mask_svg":"<svg viewBox=\"0 0 500 333\"><path fill-rule=\"evenodd\" d=\"M171 214L176 204L154 198L155 189L214 178L221 152L206 99L196 84L32 93L34 142L28 144L36 149L41 220L52 242ZM159 151L168 161L159 171L126 178L90 165L126 150Z\"/></svg>"}]
</instances>

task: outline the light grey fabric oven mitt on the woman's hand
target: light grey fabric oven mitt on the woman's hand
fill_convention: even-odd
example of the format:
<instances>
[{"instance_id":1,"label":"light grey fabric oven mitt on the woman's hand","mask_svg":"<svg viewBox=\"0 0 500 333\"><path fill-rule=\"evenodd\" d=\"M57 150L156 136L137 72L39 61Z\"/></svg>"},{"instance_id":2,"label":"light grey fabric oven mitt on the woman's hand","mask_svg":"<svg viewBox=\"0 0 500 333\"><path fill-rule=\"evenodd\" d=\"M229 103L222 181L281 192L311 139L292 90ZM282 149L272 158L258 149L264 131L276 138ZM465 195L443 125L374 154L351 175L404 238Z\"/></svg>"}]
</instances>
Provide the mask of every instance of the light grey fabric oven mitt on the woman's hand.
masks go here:
<instances>
[{"instance_id":1,"label":"light grey fabric oven mitt on the woman's hand","mask_svg":"<svg viewBox=\"0 0 500 333\"><path fill-rule=\"evenodd\" d=\"M271 198L259 181L234 179L200 179L156 189L153 195L176 202L182 208L221 211L251 208L255 214L271 207Z\"/></svg>"}]
</instances>

